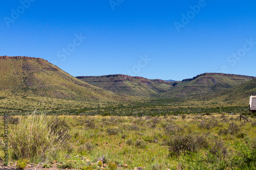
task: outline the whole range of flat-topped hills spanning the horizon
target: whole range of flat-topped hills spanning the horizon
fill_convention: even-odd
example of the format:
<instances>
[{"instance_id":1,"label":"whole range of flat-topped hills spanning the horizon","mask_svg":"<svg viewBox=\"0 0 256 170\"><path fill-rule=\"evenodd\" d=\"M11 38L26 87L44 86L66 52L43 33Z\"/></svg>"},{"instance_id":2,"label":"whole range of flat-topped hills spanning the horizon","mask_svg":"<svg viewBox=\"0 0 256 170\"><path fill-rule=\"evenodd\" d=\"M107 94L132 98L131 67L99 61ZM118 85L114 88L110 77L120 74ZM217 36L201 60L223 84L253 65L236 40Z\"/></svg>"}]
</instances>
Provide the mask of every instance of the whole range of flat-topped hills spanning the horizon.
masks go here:
<instances>
[{"instance_id":1,"label":"whole range of flat-topped hills spanning the horizon","mask_svg":"<svg viewBox=\"0 0 256 170\"><path fill-rule=\"evenodd\" d=\"M44 59L0 56L0 97L4 92L81 101L193 96L236 100L256 94L256 79L221 73L204 73L182 81L126 75L75 78Z\"/></svg>"}]
</instances>

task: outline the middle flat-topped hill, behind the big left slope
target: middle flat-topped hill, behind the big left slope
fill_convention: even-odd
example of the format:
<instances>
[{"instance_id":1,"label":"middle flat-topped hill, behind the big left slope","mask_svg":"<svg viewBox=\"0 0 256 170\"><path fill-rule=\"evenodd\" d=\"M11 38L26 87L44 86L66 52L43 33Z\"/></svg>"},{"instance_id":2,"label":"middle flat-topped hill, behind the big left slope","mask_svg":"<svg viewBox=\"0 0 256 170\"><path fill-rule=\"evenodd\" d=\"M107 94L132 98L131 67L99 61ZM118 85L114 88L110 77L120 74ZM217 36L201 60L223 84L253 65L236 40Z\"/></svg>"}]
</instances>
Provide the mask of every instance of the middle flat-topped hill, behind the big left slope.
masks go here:
<instances>
[{"instance_id":1,"label":"middle flat-topped hill, behind the big left slope","mask_svg":"<svg viewBox=\"0 0 256 170\"><path fill-rule=\"evenodd\" d=\"M159 94L168 91L172 87L172 83L164 80L150 80L127 75L78 76L76 78L105 90L137 96Z\"/></svg>"}]
</instances>

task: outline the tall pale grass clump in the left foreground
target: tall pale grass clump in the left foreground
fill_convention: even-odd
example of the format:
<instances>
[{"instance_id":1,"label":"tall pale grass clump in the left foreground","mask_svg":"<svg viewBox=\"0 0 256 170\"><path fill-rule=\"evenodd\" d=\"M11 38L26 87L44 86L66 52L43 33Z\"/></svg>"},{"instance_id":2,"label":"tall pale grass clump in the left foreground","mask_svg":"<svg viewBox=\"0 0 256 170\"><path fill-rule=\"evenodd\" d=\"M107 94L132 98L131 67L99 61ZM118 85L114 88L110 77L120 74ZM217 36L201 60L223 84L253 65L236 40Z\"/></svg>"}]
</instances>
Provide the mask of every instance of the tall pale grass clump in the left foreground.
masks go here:
<instances>
[{"instance_id":1,"label":"tall pale grass clump in the left foreground","mask_svg":"<svg viewBox=\"0 0 256 170\"><path fill-rule=\"evenodd\" d=\"M56 158L58 151L65 145L68 131L59 133L56 116L47 116L46 111L38 115L35 109L31 114L22 116L19 124L10 128L10 149L12 159L47 161Z\"/></svg>"}]
</instances>

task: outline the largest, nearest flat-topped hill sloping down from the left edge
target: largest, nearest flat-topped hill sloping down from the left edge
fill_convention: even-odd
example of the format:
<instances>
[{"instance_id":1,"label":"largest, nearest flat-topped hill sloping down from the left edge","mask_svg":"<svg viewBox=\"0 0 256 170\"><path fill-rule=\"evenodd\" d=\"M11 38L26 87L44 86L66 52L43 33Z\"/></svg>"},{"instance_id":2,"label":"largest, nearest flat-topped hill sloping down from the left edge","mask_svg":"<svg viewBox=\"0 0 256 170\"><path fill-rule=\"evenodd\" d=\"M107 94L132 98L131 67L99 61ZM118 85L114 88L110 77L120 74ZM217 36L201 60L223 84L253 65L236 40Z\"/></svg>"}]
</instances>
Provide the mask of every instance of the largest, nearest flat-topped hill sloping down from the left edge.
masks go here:
<instances>
[{"instance_id":1,"label":"largest, nearest flat-topped hill sloping down from the left edge","mask_svg":"<svg viewBox=\"0 0 256 170\"><path fill-rule=\"evenodd\" d=\"M80 81L33 57L0 56L0 92L72 100L123 100L123 96Z\"/></svg>"}]
</instances>

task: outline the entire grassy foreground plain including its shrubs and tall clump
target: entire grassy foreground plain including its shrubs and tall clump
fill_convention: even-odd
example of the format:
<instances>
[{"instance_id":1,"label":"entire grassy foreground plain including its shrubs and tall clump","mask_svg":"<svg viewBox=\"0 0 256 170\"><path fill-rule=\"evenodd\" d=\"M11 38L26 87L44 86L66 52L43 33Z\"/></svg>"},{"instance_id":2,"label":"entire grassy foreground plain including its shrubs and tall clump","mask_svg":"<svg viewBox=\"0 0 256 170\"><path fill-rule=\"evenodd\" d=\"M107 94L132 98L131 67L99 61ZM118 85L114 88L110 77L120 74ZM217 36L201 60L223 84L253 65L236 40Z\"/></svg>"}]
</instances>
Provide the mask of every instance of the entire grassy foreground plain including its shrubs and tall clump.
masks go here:
<instances>
[{"instance_id":1,"label":"entire grassy foreground plain including its shrubs and tall clump","mask_svg":"<svg viewBox=\"0 0 256 170\"><path fill-rule=\"evenodd\" d=\"M47 116L44 112L9 116L10 163L77 169L255 169L256 118L239 122L237 117L228 113Z\"/></svg>"}]
</instances>

